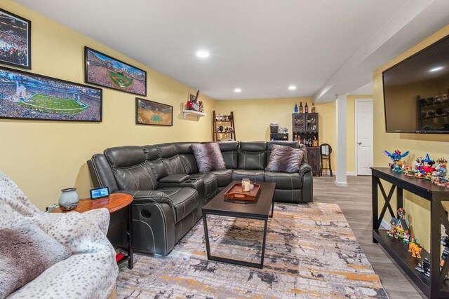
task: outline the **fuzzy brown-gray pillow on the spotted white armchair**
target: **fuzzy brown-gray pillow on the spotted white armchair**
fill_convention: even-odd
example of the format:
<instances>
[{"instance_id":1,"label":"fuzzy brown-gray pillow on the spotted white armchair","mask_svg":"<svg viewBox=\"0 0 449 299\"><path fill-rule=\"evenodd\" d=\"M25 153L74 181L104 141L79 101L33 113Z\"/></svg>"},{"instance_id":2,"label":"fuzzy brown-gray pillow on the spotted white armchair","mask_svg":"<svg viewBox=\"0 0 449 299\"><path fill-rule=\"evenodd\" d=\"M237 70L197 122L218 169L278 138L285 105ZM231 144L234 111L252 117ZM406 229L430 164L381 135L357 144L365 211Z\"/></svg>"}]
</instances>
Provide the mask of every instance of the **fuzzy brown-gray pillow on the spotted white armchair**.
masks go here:
<instances>
[{"instance_id":1,"label":"fuzzy brown-gray pillow on the spotted white armchair","mask_svg":"<svg viewBox=\"0 0 449 299\"><path fill-rule=\"evenodd\" d=\"M0 298L71 255L65 246L30 221L1 229L0 249Z\"/></svg>"}]
</instances>

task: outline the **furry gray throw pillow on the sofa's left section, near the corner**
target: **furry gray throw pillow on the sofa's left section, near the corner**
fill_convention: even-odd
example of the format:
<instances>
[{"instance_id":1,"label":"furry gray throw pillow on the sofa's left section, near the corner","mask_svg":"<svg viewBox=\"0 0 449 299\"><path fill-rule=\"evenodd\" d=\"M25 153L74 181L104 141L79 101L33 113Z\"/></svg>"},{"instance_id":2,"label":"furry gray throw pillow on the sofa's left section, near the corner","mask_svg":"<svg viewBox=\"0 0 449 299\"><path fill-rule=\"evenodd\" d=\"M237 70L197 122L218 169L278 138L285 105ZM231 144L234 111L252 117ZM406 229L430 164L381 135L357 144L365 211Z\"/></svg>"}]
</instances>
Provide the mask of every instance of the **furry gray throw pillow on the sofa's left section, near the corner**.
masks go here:
<instances>
[{"instance_id":1,"label":"furry gray throw pillow on the sofa's left section, near the corner","mask_svg":"<svg viewBox=\"0 0 449 299\"><path fill-rule=\"evenodd\" d=\"M196 164L199 172L206 173L213 170L226 169L220 146L217 143L192 144Z\"/></svg>"}]
</instances>

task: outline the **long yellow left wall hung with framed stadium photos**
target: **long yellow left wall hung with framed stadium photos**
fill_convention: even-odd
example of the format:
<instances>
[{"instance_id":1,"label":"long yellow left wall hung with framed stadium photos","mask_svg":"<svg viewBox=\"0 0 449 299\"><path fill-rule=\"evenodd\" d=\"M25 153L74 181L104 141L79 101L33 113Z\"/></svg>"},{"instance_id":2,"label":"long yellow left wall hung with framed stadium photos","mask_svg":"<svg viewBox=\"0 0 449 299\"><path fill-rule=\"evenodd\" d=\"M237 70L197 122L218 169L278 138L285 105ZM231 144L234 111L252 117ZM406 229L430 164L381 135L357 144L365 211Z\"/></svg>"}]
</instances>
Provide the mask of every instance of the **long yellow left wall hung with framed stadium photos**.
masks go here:
<instances>
[{"instance_id":1,"label":"long yellow left wall hung with framed stadium photos","mask_svg":"<svg viewBox=\"0 0 449 299\"><path fill-rule=\"evenodd\" d=\"M60 189L91 188L86 160L110 146L168 141L209 141L215 102L203 95L207 116L182 119L182 105L194 90L149 69L10 0L1 8L32 21L32 72L83 83L83 47L88 46L147 71L147 97L173 106L173 127L135 125L135 95L103 88L102 123L0 120L0 169L40 209L58 202Z\"/></svg>"}]
</instances>

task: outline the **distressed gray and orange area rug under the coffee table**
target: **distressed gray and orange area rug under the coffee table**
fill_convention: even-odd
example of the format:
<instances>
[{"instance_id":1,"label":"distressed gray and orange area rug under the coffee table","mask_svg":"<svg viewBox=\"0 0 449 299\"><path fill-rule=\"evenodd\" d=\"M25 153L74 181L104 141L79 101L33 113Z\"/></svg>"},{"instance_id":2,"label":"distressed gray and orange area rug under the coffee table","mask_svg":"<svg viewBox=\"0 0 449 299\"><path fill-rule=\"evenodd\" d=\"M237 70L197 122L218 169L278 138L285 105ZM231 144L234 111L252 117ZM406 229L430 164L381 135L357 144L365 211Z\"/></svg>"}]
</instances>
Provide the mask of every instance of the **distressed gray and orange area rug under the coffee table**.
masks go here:
<instances>
[{"instance_id":1,"label":"distressed gray and orange area rug under the coffee table","mask_svg":"<svg viewBox=\"0 0 449 299\"><path fill-rule=\"evenodd\" d=\"M208 217L211 251L257 262L263 222ZM264 268L208 260L203 223L166 257L120 267L119 298L388 298L337 204L275 204Z\"/></svg>"}]
</instances>

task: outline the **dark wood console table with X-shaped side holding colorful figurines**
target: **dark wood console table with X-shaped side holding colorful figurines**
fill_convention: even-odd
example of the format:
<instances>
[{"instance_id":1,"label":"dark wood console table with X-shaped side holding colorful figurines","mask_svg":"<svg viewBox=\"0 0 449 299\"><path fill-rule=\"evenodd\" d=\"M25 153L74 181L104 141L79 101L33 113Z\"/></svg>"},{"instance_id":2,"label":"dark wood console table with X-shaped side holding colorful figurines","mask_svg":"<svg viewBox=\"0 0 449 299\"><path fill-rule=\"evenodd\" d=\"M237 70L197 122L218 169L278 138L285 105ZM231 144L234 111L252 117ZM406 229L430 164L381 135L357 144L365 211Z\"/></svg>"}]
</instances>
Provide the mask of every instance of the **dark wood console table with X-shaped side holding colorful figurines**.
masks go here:
<instances>
[{"instance_id":1,"label":"dark wood console table with X-shaped side holding colorful figurines","mask_svg":"<svg viewBox=\"0 0 449 299\"><path fill-rule=\"evenodd\" d=\"M441 224L445 231L449 232L449 221L442 201L449 201L449 189L437 186L424 179L415 179L404 174L392 172L388 167L372 167L372 193L373 193L373 242L379 243L389 255L396 260L396 263L408 274L427 298L449 298L449 281L445 276L449 269L449 258L440 270L441 259ZM388 195L382 186L381 179L392 184ZM378 208L378 188L384 197L385 204L379 214ZM396 190L397 207L403 207L403 190L416 194L424 200L430 202L430 252L421 252L422 258L430 260L430 277L415 270L420 259L413 258L408 252L408 244L403 244L398 240L387 237L387 230L381 230L380 224L385 212L389 211L391 217L396 217L390 205L391 197Z\"/></svg>"}]
</instances>

